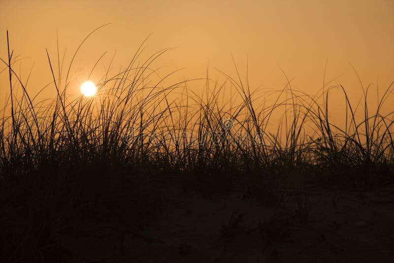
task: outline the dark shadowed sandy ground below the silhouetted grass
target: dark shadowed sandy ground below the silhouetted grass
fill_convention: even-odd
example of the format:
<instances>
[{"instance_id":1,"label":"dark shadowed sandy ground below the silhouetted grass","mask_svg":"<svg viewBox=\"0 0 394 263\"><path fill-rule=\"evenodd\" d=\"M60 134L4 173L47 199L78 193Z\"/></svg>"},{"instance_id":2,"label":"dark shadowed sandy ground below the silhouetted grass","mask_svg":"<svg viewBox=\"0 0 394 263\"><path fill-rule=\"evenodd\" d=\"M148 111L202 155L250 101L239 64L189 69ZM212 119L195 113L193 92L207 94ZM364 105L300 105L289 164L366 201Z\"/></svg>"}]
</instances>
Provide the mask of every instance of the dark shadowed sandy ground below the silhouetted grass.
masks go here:
<instances>
[{"instance_id":1,"label":"dark shadowed sandy ground below the silhouetted grass","mask_svg":"<svg viewBox=\"0 0 394 263\"><path fill-rule=\"evenodd\" d=\"M289 197L282 207L268 207L247 193L215 196L179 187L172 189L159 216L141 233L88 221L80 222L73 233L59 233L58 242L67 251L65 262L390 262L394 258L394 185L363 194L322 188L306 193L302 198Z\"/></svg>"}]
</instances>

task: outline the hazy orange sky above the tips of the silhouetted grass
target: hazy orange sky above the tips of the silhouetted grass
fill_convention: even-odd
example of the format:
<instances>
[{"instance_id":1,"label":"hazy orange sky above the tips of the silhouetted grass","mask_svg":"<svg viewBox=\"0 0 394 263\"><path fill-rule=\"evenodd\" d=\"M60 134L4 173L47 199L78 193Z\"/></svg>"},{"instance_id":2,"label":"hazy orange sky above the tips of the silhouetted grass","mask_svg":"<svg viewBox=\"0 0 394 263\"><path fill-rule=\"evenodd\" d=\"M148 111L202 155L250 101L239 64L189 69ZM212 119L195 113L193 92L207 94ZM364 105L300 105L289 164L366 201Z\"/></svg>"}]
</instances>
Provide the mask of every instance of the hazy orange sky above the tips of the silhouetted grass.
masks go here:
<instances>
[{"instance_id":1,"label":"hazy orange sky above the tips of the silhouetted grass","mask_svg":"<svg viewBox=\"0 0 394 263\"><path fill-rule=\"evenodd\" d=\"M106 23L111 24L92 35L77 55L71 68L76 84L70 92L78 93L78 83L105 51L93 79L102 76L115 52L115 71L127 66L150 33L141 58L161 48L179 47L156 64L166 66L160 71L163 75L186 67L174 80L205 77L208 63L210 77L220 76L214 67L235 77L231 55L242 76L248 57L252 87L282 88L286 79L280 66L294 78L294 88L313 95L322 87L327 59L326 80L340 76L332 85L342 84L357 99L361 87L349 62L365 86L378 83L383 90L394 80L394 0L0 2L0 57L7 58L8 29L14 53L30 57L22 61L23 79L34 63L28 85L31 94L51 82L45 47L55 61L57 31L60 53L67 49L68 65L81 40ZM9 92L7 77L6 71L0 73L0 103Z\"/></svg>"}]
</instances>

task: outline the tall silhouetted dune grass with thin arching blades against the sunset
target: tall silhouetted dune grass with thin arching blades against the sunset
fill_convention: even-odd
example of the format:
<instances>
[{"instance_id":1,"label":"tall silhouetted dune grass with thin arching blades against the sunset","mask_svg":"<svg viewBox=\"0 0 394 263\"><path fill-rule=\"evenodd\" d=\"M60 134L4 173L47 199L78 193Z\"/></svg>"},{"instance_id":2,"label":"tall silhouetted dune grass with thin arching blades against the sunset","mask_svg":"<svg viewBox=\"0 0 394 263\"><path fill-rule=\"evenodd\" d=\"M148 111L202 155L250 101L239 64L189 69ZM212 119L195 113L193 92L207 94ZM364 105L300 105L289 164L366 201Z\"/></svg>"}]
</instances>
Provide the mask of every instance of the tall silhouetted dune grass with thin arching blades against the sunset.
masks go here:
<instances>
[{"instance_id":1,"label":"tall silhouetted dune grass with thin arching blades against the sunset","mask_svg":"<svg viewBox=\"0 0 394 263\"><path fill-rule=\"evenodd\" d=\"M54 63L47 52L57 92L49 102L28 94L8 47L8 58L1 61L8 69L10 97L0 123L5 260L56 259L63 253L57 233L77 229L80 220L141 230L160 211L172 185L210 196L242 189L275 205L291 193L302 195L308 183L362 191L393 181L394 112L382 110L393 96L393 83L372 113L369 86L363 88L361 107L350 103L341 85L312 97L290 81L270 93L273 103L262 103L238 69L236 78L219 70L224 84L202 78L163 87L161 81L146 83L155 74L152 63L168 49L140 63L145 41L123 71L102 77L93 99L66 97L80 46L65 76L59 55ZM191 82L206 87L205 98ZM219 99L226 85L237 91L239 103ZM331 121L332 89L342 91L344 127Z\"/></svg>"}]
</instances>

